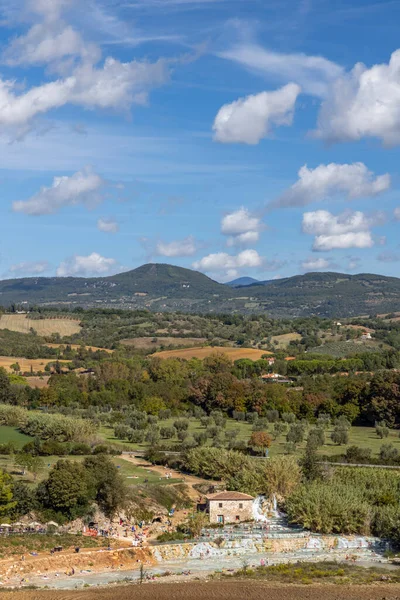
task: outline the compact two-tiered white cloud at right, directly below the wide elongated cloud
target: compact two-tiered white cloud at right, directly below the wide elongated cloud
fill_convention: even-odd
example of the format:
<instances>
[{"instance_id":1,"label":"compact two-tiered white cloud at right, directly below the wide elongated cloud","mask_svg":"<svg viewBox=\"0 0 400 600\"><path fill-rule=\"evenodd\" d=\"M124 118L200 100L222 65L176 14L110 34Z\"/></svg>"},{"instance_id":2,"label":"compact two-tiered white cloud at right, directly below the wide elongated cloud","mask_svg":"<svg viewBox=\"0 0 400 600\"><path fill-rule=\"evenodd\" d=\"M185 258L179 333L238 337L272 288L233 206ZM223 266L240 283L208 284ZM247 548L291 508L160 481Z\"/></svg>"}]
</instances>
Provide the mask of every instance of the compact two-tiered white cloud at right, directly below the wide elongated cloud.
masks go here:
<instances>
[{"instance_id":1,"label":"compact two-tiered white cloud at right, directly below the wide elongated cloud","mask_svg":"<svg viewBox=\"0 0 400 600\"><path fill-rule=\"evenodd\" d=\"M315 251L371 248L374 240L370 226L371 220L360 211L335 216L326 210L317 210L303 215L303 232L315 236Z\"/></svg>"}]
</instances>

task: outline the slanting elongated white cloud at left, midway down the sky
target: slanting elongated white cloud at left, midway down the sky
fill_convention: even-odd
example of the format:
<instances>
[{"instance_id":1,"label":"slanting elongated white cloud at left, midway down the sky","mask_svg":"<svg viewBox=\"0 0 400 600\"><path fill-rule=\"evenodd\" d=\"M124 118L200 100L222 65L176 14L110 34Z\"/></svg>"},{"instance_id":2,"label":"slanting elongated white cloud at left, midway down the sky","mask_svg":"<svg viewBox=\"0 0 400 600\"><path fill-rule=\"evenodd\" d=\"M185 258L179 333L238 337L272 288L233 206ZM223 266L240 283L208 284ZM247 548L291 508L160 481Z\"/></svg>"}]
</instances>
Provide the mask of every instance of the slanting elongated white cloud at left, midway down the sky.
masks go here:
<instances>
[{"instance_id":1,"label":"slanting elongated white cloud at left, midway down the sky","mask_svg":"<svg viewBox=\"0 0 400 600\"><path fill-rule=\"evenodd\" d=\"M57 213L64 206L94 205L102 199L104 185L99 175L90 167L85 167L70 177L55 177L51 187L42 187L29 200L13 202L13 210L38 216Z\"/></svg>"}]
</instances>

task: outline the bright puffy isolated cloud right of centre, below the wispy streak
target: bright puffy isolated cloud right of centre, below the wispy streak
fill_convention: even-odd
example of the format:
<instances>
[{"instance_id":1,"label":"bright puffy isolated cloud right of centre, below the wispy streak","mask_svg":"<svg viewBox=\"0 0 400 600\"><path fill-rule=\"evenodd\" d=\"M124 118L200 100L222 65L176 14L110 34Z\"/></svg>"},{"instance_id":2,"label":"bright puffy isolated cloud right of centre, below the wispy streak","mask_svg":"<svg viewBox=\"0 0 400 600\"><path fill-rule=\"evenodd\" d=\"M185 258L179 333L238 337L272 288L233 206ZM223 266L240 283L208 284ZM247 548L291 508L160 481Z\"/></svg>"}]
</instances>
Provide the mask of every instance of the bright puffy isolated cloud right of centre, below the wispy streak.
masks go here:
<instances>
[{"instance_id":1,"label":"bright puffy isolated cloud right of centre, below the wispy streak","mask_svg":"<svg viewBox=\"0 0 400 600\"><path fill-rule=\"evenodd\" d=\"M288 83L273 92L240 98L225 104L215 117L214 140L224 144L258 144L273 125L291 125L300 87Z\"/></svg>"}]
</instances>

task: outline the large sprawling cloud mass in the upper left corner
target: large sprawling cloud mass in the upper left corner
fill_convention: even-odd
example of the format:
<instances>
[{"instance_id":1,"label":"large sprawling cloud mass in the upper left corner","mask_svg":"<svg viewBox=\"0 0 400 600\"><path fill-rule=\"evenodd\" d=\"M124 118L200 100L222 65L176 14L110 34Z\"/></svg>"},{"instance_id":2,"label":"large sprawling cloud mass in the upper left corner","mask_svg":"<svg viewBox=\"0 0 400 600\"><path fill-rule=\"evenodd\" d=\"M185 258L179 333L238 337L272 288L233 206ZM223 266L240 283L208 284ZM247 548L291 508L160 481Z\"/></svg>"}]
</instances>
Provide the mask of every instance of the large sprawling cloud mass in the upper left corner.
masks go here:
<instances>
[{"instance_id":1,"label":"large sprawling cloud mass in the upper left corner","mask_svg":"<svg viewBox=\"0 0 400 600\"><path fill-rule=\"evenodd\" d=\"M32 3L34 4L34 3ZM67 3L41 0L36 10L41 22L11 43L3 60L11 66L44 64L60 74L58 79L21 91L15 80L0 79L0 131L23 135L35 117L73 104L85 109L127 111L145 104L151 88L168 80L164 60L101 61L101 51L87 44L61 19Z\"/></svg>"}]
</instances>

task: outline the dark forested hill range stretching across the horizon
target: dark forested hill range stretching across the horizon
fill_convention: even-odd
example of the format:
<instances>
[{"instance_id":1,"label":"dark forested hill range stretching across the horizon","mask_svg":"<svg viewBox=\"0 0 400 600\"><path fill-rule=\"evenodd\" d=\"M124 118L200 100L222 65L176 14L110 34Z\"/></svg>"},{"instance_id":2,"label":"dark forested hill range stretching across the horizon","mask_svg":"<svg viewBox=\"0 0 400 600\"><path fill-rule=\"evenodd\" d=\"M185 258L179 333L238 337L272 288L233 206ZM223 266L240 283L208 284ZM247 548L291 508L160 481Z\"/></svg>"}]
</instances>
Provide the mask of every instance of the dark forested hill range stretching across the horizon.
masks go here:
<instances>
[{"instance_id":1,"label":"dark forested hill range stretching across the horizon","mask_svg":"<svg viewBox=\"0 0 400 600\"><path fill-rule=\"evenodd\" d=\"M21 302L345 318L400 311L400 279L369 274L308 273L231 288L190 269L148 264L110 277L0 281L0 305L7 307Z\"/></svg>"}]
</instances>

